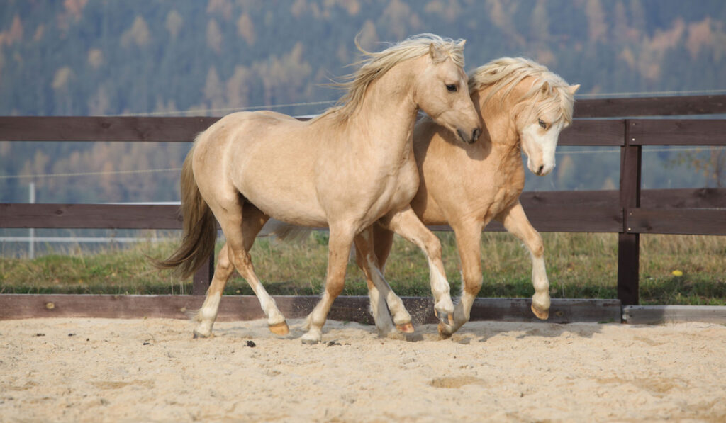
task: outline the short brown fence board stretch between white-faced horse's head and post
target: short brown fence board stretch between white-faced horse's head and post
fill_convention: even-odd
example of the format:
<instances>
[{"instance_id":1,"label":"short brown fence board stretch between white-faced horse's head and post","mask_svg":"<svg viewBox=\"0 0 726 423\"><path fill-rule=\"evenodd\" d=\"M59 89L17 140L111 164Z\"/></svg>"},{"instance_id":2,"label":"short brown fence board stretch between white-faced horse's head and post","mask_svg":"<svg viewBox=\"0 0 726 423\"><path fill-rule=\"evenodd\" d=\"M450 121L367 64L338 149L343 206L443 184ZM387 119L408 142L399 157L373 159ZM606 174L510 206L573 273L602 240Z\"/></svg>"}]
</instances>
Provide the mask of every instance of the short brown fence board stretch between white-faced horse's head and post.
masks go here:
<instances>
[{"instance_id":1,"label":"short brown fence board stretch between white-faced horse's head and post","mask_svg":"<svg viewBox=\"0 0 726 423\"><path fill-rule=\"evenodd\" d=\"M624 132L624 120L576 119L560 133L558 145L619 146Z\"/></svg>"}]
</instances>

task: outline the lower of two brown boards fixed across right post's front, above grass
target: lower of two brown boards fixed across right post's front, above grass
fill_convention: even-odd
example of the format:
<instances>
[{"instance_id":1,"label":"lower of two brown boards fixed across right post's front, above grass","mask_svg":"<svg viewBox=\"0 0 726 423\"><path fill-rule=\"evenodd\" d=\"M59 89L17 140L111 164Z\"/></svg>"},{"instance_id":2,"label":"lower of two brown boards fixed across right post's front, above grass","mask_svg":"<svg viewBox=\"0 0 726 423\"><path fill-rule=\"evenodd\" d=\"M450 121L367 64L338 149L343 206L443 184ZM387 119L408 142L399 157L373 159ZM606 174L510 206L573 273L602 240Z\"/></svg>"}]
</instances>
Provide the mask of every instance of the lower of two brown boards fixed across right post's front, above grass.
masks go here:
<instances>
[{"instance_id":1,"label":"lower of two brown boards fixed across right post's front, above grass","mask_svg":"<svg viewBox=\"0 0 726 423\"><path fill-rule=\"evenodd\" d=\"M726 235L726 209L650 209L628 210L630 234Z\"/></svg>"}]
</instances>

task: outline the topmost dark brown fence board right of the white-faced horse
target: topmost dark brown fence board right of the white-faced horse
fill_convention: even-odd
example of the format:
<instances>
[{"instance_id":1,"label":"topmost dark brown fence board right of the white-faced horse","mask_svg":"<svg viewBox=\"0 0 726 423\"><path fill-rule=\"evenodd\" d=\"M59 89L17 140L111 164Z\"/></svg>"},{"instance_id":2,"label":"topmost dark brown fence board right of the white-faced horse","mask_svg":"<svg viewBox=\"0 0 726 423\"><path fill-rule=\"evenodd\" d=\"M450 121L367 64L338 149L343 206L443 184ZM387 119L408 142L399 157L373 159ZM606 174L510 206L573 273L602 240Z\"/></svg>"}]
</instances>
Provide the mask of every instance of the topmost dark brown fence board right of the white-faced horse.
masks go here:
<instances>
[{"instance_id":1,"label":"topmost dark brown fence board right of the white-faced horse","mask_svg":"<svg viewBox=\"0 0 726 423\"><path fill-rule=\"evenodd\" d=\"M722 113L726 113L726 95L578 99L575 102L574 110L575 118L717 115Z\"/></svg>"}]
</instances>

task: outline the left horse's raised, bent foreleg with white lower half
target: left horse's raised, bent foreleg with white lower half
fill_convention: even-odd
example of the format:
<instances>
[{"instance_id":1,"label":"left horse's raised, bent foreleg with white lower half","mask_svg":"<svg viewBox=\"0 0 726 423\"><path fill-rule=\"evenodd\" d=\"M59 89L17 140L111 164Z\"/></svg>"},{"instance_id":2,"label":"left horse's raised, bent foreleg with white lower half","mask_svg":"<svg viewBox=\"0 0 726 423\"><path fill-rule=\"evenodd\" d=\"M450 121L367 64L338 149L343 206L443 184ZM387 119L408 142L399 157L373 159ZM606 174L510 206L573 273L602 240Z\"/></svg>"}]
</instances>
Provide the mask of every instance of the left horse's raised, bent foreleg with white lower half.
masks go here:
<instances>
[{"instance_id":1,"label":"left horse's raised, bent foreleg with white lower half","mask_svg":"<svg viewBox=\"0 0 726 423\"><path fill-rule=\"evenodd\" d=\"M439 332L448 331L454 324L454 302L451 297L449 281L446 280L444 262L441 260L441 242L433 232L421 223L410 206L395 213L386 215L379 223L386 229L396 232L413 242L426 255L433 294L433 310L439 318Z\"/></svg>"}]
</instances>

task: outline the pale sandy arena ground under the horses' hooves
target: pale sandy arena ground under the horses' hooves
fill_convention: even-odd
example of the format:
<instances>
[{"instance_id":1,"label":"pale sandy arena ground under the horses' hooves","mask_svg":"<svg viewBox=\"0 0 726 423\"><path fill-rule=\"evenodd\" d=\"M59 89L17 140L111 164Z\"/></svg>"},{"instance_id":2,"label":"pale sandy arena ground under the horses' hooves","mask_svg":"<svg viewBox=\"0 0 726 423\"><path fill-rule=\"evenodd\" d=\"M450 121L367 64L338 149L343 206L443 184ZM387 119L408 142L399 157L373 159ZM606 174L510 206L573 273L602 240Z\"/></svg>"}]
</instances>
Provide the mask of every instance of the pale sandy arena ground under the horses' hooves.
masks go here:
<instances>
[{"instance_id":1,"label":"pale sandy arena ground under the horses' hooves","mask_svg":"<svg viewBox=\"0 0 726 423\"><path fill-rule=\"evenodd\" d=\"M290 321L299 325L301 321ZM2 422L726 421L726 326L0 321Z\"/></svg>"}]
</instances>

